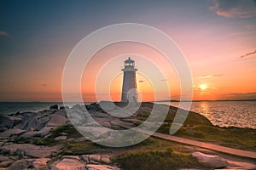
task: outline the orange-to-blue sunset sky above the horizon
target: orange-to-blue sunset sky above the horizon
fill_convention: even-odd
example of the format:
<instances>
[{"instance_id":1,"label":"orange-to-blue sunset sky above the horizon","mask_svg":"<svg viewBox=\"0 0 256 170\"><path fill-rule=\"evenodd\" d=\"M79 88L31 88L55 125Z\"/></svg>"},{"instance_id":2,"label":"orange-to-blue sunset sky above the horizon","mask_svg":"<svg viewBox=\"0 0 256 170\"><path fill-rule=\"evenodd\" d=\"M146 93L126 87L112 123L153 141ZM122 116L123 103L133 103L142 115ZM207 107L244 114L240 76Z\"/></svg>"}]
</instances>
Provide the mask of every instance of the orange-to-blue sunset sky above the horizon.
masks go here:
<instances>
[{"instance_id":1,"label":"orange-to-blue sunset sky above the horizon","mask_svg":"<svg viewBox=\"0 0 256 170\"><path fill-rule=\"evenodd\" d=\"M256 99L256 1L1 0L0 101L61 101L62 71L73 48L92 31L118 23L154 26L177 43L192 74L193 99ZM85 101L96 101L96 93L119 100L128 56L136 62L143 100L153 100L154 91L166 99L166 84L179 99L172 65L131 42L95 54L82 88L70 93L81 91Z\"/></svg>"}]
</instances>

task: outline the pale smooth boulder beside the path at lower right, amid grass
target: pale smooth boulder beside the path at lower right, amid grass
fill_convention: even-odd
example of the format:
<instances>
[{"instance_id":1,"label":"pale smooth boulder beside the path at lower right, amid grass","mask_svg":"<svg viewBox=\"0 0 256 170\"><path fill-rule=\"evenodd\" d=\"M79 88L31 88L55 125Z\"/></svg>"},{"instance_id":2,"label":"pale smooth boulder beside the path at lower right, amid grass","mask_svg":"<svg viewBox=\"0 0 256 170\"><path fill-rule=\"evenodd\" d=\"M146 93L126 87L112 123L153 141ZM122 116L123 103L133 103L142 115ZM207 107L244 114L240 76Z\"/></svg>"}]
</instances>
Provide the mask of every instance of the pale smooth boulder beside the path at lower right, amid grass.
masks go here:
<instances>
[{"instance_id":1,"label":"pale smooth boulder beside the path at lower right, amid grass","mask_svg":"<svg viewBox=\"0 0 256 170\"><path fill-rule=\"evenodd\" d=\"M201 152L194 152L192 156L194 156L197 161L199 161L201 165L205 167L221 168L229 165L228 161L219 156L211 156Z\"/></svg>"}]
</instances>

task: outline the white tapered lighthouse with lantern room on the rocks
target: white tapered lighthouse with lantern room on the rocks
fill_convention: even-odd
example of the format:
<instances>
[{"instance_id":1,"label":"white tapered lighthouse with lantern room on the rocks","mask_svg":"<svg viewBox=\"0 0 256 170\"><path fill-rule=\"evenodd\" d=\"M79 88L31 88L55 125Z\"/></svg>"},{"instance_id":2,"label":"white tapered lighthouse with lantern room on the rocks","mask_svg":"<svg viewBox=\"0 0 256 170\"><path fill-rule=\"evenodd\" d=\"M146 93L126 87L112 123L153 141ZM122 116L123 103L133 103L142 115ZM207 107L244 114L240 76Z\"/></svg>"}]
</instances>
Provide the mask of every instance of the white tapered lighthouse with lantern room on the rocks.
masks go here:
<instances>
[{"instance_id":1,"label":"white tapered lighthouse with lantern room on the rocks","mask_svg":"<svg viewBox=\"0 0 256 170\"><path fill-rule=\"evenodd\" d=\"M136 103L137 102L137 82L136 82L136 71L134 60L128 59L125 60L125 68L123 77L123 89L121 102L124 103Z\"/></svg>"}]
</instances>

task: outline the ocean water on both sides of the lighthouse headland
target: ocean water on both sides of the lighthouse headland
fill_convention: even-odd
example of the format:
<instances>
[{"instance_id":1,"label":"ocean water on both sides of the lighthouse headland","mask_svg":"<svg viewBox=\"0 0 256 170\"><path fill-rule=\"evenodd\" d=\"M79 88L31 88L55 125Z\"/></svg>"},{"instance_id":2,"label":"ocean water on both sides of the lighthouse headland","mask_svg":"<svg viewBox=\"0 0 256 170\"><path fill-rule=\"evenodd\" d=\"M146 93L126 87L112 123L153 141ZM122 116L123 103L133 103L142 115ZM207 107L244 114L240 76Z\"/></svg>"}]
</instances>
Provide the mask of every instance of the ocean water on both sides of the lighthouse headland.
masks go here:
<instances>
[{"instance_id":1,"label":"ocean water on both sides of the lighthouse headland","mask_svg":"<svg viewBox=\"0 0 256 170\"><path fill-rule=\"evenodd\" d=\"M158 102L166 104L165 102ZM0 102L0 115L9 115L18 111L43 111L50 105L62 106L62 102ZM77 103L68 103L69 107ZM178 106L178 102L170 105ZM207 117L213 125L219 127L249 127L256 129L256 101L201 101L193 102L191 111Z\"/></svg>"}]
</instances>

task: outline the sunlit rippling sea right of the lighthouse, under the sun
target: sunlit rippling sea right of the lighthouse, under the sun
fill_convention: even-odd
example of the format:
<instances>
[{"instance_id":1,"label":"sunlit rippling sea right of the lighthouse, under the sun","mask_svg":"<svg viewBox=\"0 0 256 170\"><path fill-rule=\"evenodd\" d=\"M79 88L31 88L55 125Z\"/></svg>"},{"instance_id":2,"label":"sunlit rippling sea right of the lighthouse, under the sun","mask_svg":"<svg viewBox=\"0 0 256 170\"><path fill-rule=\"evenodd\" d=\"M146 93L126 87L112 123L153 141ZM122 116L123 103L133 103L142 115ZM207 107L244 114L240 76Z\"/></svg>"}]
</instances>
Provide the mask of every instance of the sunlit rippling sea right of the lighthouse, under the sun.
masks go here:
<instances>
[{"instance_id":1,"label":"sunlit rippling sea right of the lighthouse, under the sun","mask_svg":"<svg viewBox=\"0 0 256 170\"><path fill-rule=\"evenodd\" d=\"M177 107L179 102L171 102L170 105ZM193 102L190 111L200 113L219 127L256 128L256 101Z\"/></svg>"}]
</instances>

